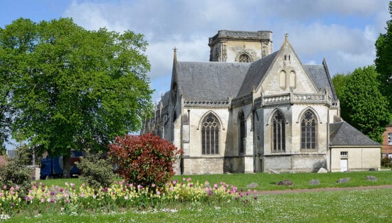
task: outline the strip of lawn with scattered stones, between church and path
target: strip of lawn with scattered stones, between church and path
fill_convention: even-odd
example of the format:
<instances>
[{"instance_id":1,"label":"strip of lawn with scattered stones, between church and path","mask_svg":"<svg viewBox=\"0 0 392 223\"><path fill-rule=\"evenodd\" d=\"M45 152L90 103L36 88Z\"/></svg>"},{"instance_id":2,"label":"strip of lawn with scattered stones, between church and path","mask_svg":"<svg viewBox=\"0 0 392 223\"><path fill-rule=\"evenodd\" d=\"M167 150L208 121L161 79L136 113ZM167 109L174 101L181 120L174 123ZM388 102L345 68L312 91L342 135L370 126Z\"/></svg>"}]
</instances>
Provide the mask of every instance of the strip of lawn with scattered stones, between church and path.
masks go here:
<instances>
[{"instance_id":1,"label":"strip of lawn with scattered stones, between church and path","mask_svg":"<svg viewBox=\"0 0 392 223\"><path fill-rule=\"evenodd\" d=\"M378 180L366 180L366 176L376 176ZM349 183L337 183L338 179L349 177ZM360 186L375 186L375 185L392 185L392 171L375 171L375 172L347 172L347 173L297 173L297 174L210 174L210 175L192 175L192 176L173 176L173 180L182 181L183 178L192 178L193 182L199 180L204 183L206 180L210 183L227 183L228 185L235 185L238 188L246 189L246 186L254 182L259 185L255 188L258 191L265 190L284 190L284 189L312 189L323 187L360 187ZM285 179L290 179L294 185L278 186L277 182ZM320 185L309 185L312 179L320 180ZM39 180L45 185L59 185L63 186L65 182L74 183L78 188L82 182L78 178L69 179L52 179Z\"/></svg>"}]
</instances>

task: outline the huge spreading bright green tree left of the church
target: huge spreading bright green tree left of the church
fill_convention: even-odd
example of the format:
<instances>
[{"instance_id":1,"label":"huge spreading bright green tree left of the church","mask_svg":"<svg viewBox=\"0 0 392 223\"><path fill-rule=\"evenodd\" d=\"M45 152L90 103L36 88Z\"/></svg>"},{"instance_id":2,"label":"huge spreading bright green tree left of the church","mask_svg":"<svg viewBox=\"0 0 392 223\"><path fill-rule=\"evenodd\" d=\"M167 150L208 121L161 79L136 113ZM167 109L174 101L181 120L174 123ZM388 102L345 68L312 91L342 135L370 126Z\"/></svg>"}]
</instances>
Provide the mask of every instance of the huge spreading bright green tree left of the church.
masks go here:
<instances>
[{"instance_id":1,"label":"huge spreading bright green tree left of the church","mask_svg":"<svg viewBox=\"0 0 392 223\"><path fill-rule=\"evenodd\" d=\"M72 19L18 19L0 30L10 62L14 136L51 154L105 150L151 109L142 34L85 30ZM4 60L2 58L2 60Z\"/></svg>"}]
</instances>

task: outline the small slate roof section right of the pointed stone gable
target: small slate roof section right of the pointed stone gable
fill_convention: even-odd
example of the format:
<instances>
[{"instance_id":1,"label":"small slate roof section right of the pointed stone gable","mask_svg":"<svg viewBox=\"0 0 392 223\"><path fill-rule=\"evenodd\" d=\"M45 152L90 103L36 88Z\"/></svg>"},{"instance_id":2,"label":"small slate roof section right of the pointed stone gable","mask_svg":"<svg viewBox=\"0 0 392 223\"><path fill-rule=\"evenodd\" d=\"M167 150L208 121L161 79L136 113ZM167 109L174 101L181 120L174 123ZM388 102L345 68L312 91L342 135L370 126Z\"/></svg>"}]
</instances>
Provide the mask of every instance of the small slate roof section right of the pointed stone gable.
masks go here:
<instances>
[{"instance_id":1,"label":"small slate roof section right of the pointed stone gable","mask_svg":"<svg viewBox=\"0 0 392 223\"><path fill-rule=\"evenodd\" d=\"M332 86L332 82L329 78L329 73L325 69L323 64L320 65L307 65L304 64L306 72L309 74L310 78L312 78L314 84L316 84L317 89L328 89L331 93L332 100L336 102L338 97L334 91L334 87Z\"/></svg>"}]
</instances>

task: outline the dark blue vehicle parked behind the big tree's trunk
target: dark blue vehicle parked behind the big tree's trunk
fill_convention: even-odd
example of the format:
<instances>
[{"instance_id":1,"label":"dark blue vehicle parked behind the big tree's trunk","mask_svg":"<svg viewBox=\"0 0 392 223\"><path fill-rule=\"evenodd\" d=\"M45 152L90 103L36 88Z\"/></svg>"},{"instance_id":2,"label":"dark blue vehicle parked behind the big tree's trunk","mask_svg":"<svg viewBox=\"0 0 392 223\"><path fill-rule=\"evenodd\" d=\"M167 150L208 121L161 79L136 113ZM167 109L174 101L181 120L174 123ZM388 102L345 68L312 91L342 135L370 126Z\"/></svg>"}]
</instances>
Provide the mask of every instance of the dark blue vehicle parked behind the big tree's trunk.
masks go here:
<instances>
[{"instance_id":1,"label":"dark blue vehicle parked behind the big tree's trunk","mask_svg":"<svg viewBox=\"0 0 392 223\"><path fill-rule=\"evenodd\" d=\"M84 156L82 151L72 151L71 152L71 161L70 161L70 175L71 176L79 176L80 169L75 165L75 162L80 161L80 157ZM63 156L47 156L41 161L41 172L40 178L41 180L45 180L47 178L62 178L64 175L64 165L63 165Z\"/></svg>"}]
</instances>

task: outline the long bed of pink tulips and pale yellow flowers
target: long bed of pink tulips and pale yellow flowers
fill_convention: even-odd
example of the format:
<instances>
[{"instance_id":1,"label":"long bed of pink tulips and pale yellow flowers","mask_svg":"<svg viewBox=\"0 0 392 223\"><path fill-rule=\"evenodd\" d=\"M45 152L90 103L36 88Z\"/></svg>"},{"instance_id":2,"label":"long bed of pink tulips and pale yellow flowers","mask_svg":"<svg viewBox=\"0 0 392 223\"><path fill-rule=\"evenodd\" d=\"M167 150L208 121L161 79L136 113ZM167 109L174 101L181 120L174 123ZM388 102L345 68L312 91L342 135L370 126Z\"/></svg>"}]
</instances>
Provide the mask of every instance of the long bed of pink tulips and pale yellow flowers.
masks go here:
<instances>
[{"instance_id":1,"label":"long bed of pink tulips and pale yellow flowers","mask_svg":"<svg viewBox=\"0 0 392 223\"><path fill-rule=\"evenodd\" d=\"M80 211L113 211L117 209L149 209L173 207L176 204L222 204L236 200L250 199L256 191L243 191L226 183L193 183L190 178L182 181L172 180L164 187L152 184L149 187L114 181L110 187L93 189L84 183L76 188L74 183L64 187L32 183L29 191L19 187L0 189L1 216L19 212L43 213L47 209L59 209L65 213ZM243 198L246 196L246 198ZM254 196L252 199L256 199ZM2 217L3 218L3 217ZM6 217L5 217L6 218Z\"/></svg>"}]
</instances>

